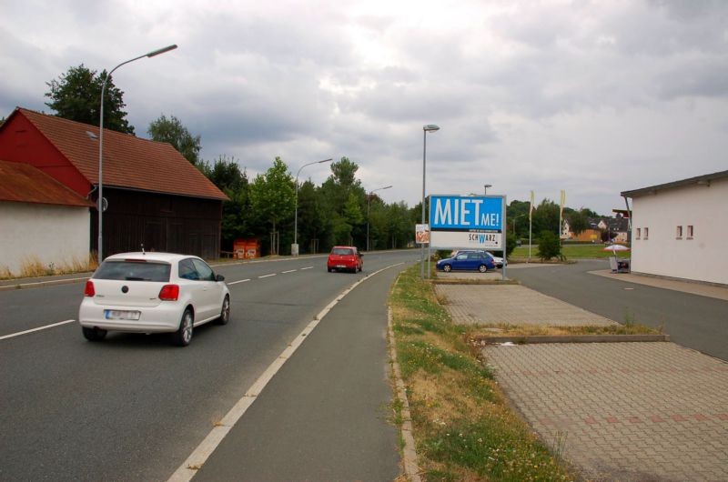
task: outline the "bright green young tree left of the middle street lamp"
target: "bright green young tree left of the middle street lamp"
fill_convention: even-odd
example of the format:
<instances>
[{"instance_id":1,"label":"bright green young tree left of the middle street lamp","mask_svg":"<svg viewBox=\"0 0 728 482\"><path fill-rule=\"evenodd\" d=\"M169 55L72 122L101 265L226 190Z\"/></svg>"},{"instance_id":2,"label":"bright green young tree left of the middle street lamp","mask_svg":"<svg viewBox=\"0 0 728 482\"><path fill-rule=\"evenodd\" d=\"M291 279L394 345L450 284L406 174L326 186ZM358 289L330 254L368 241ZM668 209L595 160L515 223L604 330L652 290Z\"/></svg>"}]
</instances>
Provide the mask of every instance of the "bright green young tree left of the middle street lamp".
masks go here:
<instances>
[{"instance_id":1,"label":"bright green young tree left of the middle street lamp","mask_svg":"<svg viewBox=\"0 0 728 482\"><path fill-rule=\"evenodd\" d=\"M252 208L261 219L270 223L273 232L277 232L281 221L293 216L296 207L294 180L280 157L276 157L266 174L256 176L250 186L250 200ZM278 247L271 246L270 251L278 254Z\"/></svg>"}]
</instances>

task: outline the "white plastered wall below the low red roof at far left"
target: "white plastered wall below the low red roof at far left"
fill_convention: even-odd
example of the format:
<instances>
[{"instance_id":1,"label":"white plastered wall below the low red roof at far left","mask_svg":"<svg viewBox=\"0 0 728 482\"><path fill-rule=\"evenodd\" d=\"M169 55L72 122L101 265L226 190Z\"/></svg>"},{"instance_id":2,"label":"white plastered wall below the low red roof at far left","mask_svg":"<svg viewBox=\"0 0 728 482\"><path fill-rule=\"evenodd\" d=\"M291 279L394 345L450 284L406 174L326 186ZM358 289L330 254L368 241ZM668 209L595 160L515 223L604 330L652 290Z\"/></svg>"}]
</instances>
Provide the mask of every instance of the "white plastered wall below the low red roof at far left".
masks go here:
<instances>
[{"instance_id":1,"label":"white plastered wall below the low red roof at far left","mask_svg":"<svg viewBox=\"0 0 728 482\"><path fill-rule=\"evenodd\" d=\"M89 216L87 207L0 201L0 272L17 276L29 259L56 267L86 260Z\"/></svg>"}]
</instances>

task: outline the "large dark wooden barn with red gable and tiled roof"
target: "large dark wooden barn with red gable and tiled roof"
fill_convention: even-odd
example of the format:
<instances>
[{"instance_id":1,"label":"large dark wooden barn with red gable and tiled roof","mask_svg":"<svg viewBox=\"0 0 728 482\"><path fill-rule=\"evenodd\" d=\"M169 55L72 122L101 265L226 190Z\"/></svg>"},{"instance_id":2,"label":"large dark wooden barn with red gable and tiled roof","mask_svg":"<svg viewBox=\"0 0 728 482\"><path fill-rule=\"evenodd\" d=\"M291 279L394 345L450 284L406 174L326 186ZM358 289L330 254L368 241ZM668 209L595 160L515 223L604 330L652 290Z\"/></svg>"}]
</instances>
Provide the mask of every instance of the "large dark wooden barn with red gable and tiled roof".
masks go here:
<instances>
[{"instance_id":1,"label":"large dark wooden barn with red gable and tiled roof","mask_svg":"<svg viewBox=\"0 0 728 482\"><path fill-rule=\"evenodd\" d=\"M98 126L16 108L0 126L0 159L35 166L97 206ZM217 186L167 144L104 129L104 256L169 251L219 257ZM89 245L97 251L91 207Z\"/></svg>"}]
</instances>

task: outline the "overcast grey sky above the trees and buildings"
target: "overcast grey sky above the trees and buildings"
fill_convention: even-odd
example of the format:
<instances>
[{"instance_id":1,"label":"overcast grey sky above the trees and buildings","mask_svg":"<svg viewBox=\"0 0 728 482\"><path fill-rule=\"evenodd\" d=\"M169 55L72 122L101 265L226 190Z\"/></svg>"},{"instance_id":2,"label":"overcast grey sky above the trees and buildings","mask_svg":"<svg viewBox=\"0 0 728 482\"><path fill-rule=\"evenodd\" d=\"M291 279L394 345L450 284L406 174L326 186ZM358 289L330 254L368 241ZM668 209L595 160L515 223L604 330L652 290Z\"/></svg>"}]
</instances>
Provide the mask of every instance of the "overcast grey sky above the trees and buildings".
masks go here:
<instances>
[{"instance_id":1,"label":"overcast grey sky above the trees and buildings","mask_svg":"<svg viewBox=\"0 0 728 482\"><path fill-rule=\"evenodd\" d=\"M611 214L623 190L728 169L728 2L0 0L0 116L116 71L147 136L175 115L254 176L348 156L366 189L502 194ZM320 183L326 165L301 177Z\"/></svg>"}]
</instances>

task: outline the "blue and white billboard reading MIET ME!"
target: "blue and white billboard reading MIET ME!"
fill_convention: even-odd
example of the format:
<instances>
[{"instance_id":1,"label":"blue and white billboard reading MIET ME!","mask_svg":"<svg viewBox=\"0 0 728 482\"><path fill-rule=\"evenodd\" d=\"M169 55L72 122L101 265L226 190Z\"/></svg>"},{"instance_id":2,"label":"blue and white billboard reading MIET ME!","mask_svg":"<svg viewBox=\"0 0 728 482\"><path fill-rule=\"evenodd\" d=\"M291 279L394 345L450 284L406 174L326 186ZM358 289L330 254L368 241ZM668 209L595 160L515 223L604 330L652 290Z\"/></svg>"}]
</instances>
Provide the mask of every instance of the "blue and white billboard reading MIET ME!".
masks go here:
<instances>
[{"instance_id":1,"label":"blue and white billboard reading MIET ME!","mask_svg":"<svg viewBox=\"0 0 728 482\"><path fill-rule=\"evenodd\" d=\"M430 196L430 247L502 250L503 196Z\"/></svg>"}]
</instances>

